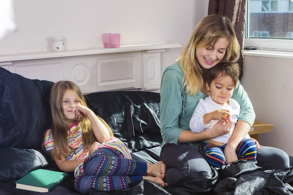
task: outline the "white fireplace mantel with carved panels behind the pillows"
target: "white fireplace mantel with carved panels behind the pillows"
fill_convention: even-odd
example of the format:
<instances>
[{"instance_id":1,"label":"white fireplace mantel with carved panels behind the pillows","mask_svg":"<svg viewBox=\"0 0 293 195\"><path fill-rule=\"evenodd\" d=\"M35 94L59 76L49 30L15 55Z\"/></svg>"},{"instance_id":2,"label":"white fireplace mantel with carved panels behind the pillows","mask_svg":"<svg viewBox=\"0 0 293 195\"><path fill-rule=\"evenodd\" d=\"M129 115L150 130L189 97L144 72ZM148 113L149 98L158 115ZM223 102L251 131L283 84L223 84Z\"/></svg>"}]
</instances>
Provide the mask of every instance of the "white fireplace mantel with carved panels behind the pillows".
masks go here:
<instances>
[{"instance_id":1,"label":"white fireplace mantel with carved panels behind the pillows","mask_svg":"<svg viewBox=\"0 0 293 195\"><path fill-rule=\"evenodd\" d=\"M26 78L71 80L83 93L160 88L161 52L180 44L146 44L0 55L0 67Z\"/></svg>"}]
</instances>

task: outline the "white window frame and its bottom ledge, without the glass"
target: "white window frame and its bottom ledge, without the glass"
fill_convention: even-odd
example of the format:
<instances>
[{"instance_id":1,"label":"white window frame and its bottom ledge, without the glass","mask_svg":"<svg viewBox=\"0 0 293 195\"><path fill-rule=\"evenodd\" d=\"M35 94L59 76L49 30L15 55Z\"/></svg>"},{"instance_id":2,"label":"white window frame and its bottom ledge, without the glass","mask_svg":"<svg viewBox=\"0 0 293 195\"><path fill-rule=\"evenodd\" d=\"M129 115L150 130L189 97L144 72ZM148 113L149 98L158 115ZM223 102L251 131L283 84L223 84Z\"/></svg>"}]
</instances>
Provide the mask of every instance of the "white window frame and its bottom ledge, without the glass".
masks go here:
<instances>
[{"instance_id":1,"label":"white window frame and its bottom ledge, without the glass","mask_svg":"<svg viewBox=\"0 0 293 195\"><path fill-rule=\"evenodd\" d=\"M245 39L244 39L244 46L245 47L257 47L260 49L268 49L268 50L279 50L279 51L293 51L293 39L265 39L265 38L246 38L248 37L249 33L249 24L248 21L250 20L250 0L247 2L247 14L246 14L246 29L245 29ZM289 7L288 7L289 9Z\"/></svg>"}]
</instances>

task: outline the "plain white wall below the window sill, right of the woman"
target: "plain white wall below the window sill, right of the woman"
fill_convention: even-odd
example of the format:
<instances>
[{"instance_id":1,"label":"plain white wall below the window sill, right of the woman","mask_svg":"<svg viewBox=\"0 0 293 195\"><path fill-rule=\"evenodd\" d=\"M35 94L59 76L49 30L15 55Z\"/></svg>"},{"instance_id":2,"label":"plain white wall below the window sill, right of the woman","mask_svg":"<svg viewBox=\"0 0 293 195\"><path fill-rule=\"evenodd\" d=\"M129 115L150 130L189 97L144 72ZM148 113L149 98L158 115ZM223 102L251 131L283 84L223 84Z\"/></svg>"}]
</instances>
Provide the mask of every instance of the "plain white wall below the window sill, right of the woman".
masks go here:
<instances>
[{"instance_id":1,"label":"plain white wall below the window sill, right of the woman","mask_svg":"<svg viewBox=\"0 0 293 195\"><path fill-rule=\"evenodd\" d=\"M261 145L276 147L293 156L293 59L244 56L241 84L245 87L256 120L273 124L260 134Z\"/></svg>"}]
</instances>

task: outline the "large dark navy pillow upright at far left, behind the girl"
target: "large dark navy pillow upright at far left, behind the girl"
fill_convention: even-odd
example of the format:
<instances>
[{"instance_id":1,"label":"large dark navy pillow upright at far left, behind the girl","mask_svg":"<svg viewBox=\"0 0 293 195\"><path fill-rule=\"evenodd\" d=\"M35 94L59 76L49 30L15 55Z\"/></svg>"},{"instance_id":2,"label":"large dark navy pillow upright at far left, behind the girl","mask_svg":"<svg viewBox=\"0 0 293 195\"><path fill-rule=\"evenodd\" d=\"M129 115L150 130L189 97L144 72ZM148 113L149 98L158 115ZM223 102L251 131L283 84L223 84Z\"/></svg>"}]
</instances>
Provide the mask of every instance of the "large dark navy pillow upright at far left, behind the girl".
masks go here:
<instances>
[{"instance_id":1,"label":"large dark navy pillow upright at far left, behind the girl","mask_svg":"<svg viewBox=\"0 0 293 195\"><path fill-rule=\"evenodd\" d=\"M0 68L0 148L41 148L53 84Z\"/></svg>"}]
</instances>

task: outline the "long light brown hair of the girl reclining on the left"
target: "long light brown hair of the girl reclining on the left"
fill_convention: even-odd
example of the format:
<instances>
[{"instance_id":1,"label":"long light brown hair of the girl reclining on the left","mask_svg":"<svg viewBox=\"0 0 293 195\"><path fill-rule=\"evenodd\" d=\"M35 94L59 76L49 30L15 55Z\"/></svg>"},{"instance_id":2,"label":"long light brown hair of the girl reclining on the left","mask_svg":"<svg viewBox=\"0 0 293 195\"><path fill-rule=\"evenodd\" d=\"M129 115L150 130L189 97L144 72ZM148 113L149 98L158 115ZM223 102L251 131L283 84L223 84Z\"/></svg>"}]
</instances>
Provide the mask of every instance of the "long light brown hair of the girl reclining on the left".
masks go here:
<instances>
[{"instance_id":1,"label":"long light brown hair of the girl reclining on the left","mask_svg":"<svg viewBox=\"0 0 293 195\"><path fill-rule=\"evenodd\" d=\"M77 129L82 129L82 137L84 149L88 149L97 139L94 135L91 122L87 116L79 117L77 119L68 119L63 113L63 98L67 90L71 90L76 98L79 99L80 103L85 107L86 105L84 95L82 94L80 88L71 81L58 81L52 88L50 93L50 106L52 114L52 125L51 132L54 139L54 157L61 159L61 155L69 155L71 152L74 152L76 149L68 145L68 130L70 125L78 122ZM97 116L98 117L98 116ZM98 117L107 127L110 136L113 136L113 133L109 125L100 117Z\"/></svg>"}]
</instances>

